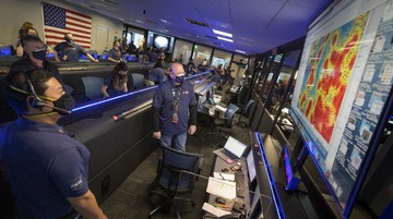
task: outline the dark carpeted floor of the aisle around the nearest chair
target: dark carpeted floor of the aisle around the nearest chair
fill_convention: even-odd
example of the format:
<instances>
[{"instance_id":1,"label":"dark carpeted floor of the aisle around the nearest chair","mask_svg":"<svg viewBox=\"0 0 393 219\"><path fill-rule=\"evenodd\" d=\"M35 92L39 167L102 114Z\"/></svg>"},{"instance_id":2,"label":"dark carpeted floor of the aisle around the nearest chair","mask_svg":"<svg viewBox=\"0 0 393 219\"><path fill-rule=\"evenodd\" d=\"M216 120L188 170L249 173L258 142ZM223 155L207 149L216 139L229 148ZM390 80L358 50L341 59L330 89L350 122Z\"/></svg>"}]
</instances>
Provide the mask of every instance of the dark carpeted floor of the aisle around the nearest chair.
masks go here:
<instances>
[{"instance_id":1,"label":"dark carpeted floor of the aisle around the nearest chair","mask_svg":"<svg viewBox=\"0 0 393 219\"><path fill-rule=\"evenodd\" d=\"M209 118L199 118L200 122L195 136L188 136L187 151L204 154L205 163L201 175L209 177L213 166L213 150L217 148L218 138L221 146L225 138L217 137L212 132L217 131ZM247 118L242 118L247 121ZM240 124L233 129L222 129L223 133L230 135L245 144L249 144L249 130ZM102 208L110 219L140 219L146 218L153 207L148 204L148 193L152 182L156 177L157 149L153 151L128 178L127 180L102 204ZM180 205L180 215L183 219L202 218L202 205L206 198L207 180L200 178L196 181L193 192L187 197L195 200L196 206ZM170 212L160 212L154 216L155 219L174 218Z\"/></svg>"}]
</instances>

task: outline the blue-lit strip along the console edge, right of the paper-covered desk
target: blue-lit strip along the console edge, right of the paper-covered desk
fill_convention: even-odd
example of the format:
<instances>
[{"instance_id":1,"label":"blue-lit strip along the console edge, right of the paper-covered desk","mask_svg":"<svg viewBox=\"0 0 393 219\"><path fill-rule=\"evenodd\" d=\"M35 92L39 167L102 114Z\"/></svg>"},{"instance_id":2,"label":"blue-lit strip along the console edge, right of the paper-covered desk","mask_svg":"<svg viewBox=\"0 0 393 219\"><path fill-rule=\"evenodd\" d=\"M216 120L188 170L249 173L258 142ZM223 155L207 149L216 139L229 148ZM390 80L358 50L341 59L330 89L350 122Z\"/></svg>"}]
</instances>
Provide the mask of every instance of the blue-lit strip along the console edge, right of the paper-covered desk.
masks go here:
<instances>
[{"instance_id":1,"label":"blue-lit strip along the console edge, right of the paper-covered desk","mask_svg":"<svg viewBox=\"0 0 393 219\"><path fill-rule=\"evenodd\" d=\"M255 135L258 137L258 144L260 145L260 150L261 150L261 154L262 154L262 157L263 157L264 168L265 168L266 173L267 173L269 185L270 185L270 188L271 188L272 194L273 194L273 200L274 200L274 205L276 207L277 216L278 216L279 219L285 219L284 209L283 209L282 204L279 202L279 196L278 196L277 188L275 186L272 170L270 168L270 163L267 161L266 154L265 154L265 151L263 149L263 143L262 143L262 139L261 139L261 135L258 132L255 132Z\"/></svg>"}]
</instances>

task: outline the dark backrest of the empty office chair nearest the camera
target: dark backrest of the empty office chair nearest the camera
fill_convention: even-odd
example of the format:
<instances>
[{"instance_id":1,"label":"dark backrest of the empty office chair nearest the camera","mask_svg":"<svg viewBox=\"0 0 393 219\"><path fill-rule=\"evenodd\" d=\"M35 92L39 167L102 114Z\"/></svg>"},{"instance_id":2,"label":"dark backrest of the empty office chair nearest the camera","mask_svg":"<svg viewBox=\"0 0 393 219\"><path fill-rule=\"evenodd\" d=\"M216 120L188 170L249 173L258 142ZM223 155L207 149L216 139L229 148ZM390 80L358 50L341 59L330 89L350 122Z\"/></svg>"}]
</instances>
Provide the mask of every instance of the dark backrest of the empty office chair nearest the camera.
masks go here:
<instances>
[{"instance_id":1,"label":"dark backrest of the empty office chair nearest the camera","mask_svg":"<svg viewBox=\"0 0 393 219\"><path fill-rule=\"evenodd\" d=\"M199 173L202 154L191 154L162 146L163 165L157 175L162 187L175 193L191 192L196 177L188 171Z\"/></svg>"}]
</instances>

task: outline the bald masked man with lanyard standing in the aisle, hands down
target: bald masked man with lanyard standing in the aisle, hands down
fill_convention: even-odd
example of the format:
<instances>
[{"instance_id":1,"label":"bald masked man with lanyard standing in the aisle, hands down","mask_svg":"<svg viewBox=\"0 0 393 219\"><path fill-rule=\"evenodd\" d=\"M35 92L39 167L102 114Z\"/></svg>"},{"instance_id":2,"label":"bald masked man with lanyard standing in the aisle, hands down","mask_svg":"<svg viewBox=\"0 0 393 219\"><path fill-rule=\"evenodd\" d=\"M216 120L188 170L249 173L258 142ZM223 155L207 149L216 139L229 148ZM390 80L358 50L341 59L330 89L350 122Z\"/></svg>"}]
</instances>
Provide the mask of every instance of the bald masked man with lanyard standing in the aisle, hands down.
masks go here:
<instances>
[{"instance_id":1,"label":"bald masked man with lanyard standing in the aisle, hands down","mask_svg":"<svg viewBox=\"0 0 393 219\"><path fill-rule=\"evenodd\" d=\"M196 131L195 95L191 83L184 82L180 63L172 63L169 71L170 80L157 87L153 98L153 137L163 146L186 151L187 133Z\"/></svg>"}]
</instances>

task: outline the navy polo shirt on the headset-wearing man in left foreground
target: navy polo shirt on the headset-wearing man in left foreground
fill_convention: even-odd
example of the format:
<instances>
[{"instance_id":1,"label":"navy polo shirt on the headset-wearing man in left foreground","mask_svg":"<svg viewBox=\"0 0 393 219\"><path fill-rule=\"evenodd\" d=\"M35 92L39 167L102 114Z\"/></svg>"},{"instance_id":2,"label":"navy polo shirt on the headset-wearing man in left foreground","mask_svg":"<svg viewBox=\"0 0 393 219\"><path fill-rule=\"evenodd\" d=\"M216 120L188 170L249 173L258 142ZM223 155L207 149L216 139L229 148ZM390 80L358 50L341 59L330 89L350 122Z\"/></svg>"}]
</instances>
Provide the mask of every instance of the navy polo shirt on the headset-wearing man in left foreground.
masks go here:
<instances>
[{"instance_id":1,"label":"navy polo shirt on the headset-wearing man in left foreground","mask_svg":"<svg viewBox=\"0 0 393 219\"><path fill-rule=\"evenodd\" d=\"M19 118L0 129L0 149L20 218L64 216L66 197L88 191L90 153L58 125Z\"/></svg>"}]
</instances>

